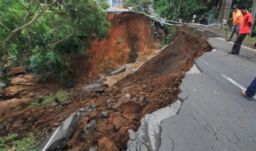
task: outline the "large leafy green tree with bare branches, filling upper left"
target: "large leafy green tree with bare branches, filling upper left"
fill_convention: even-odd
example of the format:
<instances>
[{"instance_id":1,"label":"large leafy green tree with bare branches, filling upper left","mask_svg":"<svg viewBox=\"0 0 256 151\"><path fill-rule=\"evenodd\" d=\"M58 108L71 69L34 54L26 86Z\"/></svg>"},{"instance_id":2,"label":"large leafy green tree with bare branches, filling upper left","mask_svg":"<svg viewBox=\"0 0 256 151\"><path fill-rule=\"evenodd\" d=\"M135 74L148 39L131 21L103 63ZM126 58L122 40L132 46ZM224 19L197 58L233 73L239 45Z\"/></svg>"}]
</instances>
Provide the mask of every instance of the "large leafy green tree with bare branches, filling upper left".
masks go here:
<instances>
[{"instance_id":1,"label":"large leafy green tree with bare branches, filling upper left","mask_svg":"<svg viewBox=\"0 0 256 151\"><path fill-rule=\"evenodd\" d=\"M88 42L107 36L107 7L105 0L0 0L0 78L24 63L34 73L49 71L45 75L67 82L67 53L89 57Z\"/></svg>"}]
</instances>

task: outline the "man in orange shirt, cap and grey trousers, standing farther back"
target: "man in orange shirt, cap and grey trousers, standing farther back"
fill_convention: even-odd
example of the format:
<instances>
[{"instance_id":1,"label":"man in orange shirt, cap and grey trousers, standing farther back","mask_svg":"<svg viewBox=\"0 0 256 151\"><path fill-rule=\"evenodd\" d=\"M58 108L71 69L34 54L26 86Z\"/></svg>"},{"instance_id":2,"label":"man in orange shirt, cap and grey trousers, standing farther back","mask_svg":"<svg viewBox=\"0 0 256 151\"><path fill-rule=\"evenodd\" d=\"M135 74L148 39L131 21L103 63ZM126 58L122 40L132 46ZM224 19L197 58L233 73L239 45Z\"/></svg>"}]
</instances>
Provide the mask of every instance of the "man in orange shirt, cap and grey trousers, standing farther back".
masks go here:
<instances>
[{"instance_id":1,"label":"man in orange shirt, cap and grey trousers, standing farther back","mask_svg":"<svg viewBox=\"0 0 256 151\"><path fill-rule=\"evenodd\" d=\"M228 21L233 20L233 23L232 23L233 27L232 27L232 30L231 30L231 35L230 35L230 38L227 39L227 41L231 41L235 32L236 32L236 35L238 36L239 28L240 28L240 26L242 24L242 21L243 21L243 15L242 15L241 11L238 9L237 4L233 5L233 9L234 9L234 11L232 13L233 17L231 19L227 19Z\"/></svg>"}]
</instances>

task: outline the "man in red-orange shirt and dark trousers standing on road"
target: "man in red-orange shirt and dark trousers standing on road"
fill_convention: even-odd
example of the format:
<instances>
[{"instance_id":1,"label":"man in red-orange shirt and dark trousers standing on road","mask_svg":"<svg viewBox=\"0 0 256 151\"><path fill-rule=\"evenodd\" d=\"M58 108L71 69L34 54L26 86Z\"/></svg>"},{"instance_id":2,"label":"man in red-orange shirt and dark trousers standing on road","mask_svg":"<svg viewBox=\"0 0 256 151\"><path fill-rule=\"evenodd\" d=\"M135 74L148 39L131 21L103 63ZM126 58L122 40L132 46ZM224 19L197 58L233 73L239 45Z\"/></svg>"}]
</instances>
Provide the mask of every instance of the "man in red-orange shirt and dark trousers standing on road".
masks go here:
<instances>
[{"instance_id":1,"label":"man in red-orange shirt and dark trousers standing on road","mask_svg":"<svg viewBox=\"0 0 256 151\"><path fill-rule=\"evenodd\" d=\"M240 8L243 16L243 22L242 25L240 27L239 30L239 35L236 39L236 42L234 43L232 50L228 50L227 52L230 54L239 54L242 42L244 40L244 38L246 38L247 34L250 34L250 26L253 25L252 21L253 21L253 17L252 14L249 13L249 11L247 10L246 6L243 5Z\"/></svg>"}]
</instances>

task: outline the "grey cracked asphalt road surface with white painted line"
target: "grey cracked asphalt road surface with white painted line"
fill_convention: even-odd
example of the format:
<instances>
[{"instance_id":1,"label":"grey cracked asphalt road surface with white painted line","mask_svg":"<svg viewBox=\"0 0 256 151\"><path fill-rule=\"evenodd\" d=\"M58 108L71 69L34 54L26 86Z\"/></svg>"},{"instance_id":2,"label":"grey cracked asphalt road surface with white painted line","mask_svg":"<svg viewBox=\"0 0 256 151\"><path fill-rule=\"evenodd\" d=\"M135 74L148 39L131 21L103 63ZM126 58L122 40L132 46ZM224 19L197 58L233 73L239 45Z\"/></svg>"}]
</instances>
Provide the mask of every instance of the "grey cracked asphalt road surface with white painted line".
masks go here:
<instances>
[{"instance_id":1,"label":"grey cracked asphalt road surface with white painted line","mask_svg":"<svg viewBox=\"0 0 256 151\"><path fill-rule=\"evenodd\" d=\"M180 86L177 115L162 120L156 150L256 150L256 100L241 95L256 76L255 50L209 38L214 51L195 60Z\"/></svg>"}]
</instances>

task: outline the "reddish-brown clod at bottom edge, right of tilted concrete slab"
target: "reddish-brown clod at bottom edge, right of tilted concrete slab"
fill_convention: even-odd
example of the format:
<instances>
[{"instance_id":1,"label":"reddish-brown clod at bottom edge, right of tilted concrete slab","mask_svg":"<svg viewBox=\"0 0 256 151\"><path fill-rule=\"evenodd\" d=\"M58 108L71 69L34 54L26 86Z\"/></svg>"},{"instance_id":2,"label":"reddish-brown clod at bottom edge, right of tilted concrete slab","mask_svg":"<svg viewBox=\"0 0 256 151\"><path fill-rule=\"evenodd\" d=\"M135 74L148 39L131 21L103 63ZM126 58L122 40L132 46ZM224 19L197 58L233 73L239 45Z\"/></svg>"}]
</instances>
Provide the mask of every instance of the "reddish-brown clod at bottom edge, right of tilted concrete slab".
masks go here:
<instances>
[{"instance_id":1,"label":"reddish-brown clod at bottom edge, right of tilted concrete slab","mask_svg":"<svg viewBox=\"0 0 256 151\"><path fill-rule=\"evenodd\" d=\"M119 148L116 146L116 144L111 141L108 137L103 137L99 141L99 151L119 151Z\"/></svg>"}]
</instances>

